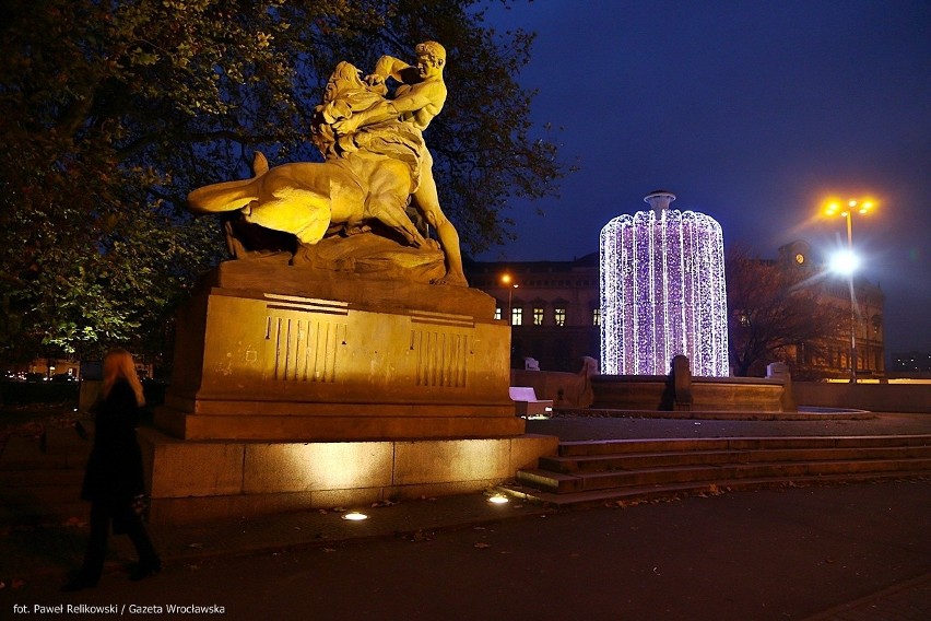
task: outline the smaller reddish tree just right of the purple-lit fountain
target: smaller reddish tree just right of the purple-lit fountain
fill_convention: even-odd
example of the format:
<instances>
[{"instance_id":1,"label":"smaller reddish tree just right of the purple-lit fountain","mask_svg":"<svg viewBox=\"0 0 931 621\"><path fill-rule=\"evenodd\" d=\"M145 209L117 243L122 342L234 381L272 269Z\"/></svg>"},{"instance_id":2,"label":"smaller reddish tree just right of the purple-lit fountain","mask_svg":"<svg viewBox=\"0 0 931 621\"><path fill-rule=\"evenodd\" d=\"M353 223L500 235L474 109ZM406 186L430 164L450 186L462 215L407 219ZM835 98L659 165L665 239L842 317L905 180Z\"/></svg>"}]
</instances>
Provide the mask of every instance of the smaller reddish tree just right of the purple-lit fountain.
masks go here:
<instances>
[{"instance_id":1,"label":"smaller reddish tree just right of the purple-lit fountain","mask_svg":"<svg viewBox=\"0 0 931 621\"><path fill-rule=\"evenodd\" d=\"M768 363L785 362L793 375L804 375L810 368L799 352L823 355L823 343L846 326L844 309L824 295L818 272L751 257L741 246L728 250L726 262L734 374L762 376Z\"/></svg>"}]
</instances>

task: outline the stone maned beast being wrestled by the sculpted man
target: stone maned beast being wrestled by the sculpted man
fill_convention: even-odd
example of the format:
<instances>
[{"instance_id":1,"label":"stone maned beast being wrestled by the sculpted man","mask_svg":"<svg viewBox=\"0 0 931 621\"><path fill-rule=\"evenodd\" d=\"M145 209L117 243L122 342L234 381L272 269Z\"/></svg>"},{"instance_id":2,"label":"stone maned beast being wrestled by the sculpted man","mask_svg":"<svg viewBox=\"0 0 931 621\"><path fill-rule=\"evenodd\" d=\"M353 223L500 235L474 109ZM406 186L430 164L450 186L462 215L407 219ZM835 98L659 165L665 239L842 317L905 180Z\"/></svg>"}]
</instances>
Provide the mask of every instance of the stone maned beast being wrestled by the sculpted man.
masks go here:
<instances>
[{"instance_id":1,"label":"stone maned beast being wrestled by the sculpted man","mask_svg":"<svg viewBox=\"0 0 931 621\"><path fill-rule=\"evenodd\" d=\"M257 156L256 176L198 188L188 207L199 213L240 210L245 220L293 233L300 244L316 244L328 233L349 234L377 220L411 246L426 241L404 212L417 186L422 140L405 124L387 121L352 136L339 136L331 124L381 98L341 62L315 110L314 141L327 159L268 167Z\"/></svg>"}]
</instances>

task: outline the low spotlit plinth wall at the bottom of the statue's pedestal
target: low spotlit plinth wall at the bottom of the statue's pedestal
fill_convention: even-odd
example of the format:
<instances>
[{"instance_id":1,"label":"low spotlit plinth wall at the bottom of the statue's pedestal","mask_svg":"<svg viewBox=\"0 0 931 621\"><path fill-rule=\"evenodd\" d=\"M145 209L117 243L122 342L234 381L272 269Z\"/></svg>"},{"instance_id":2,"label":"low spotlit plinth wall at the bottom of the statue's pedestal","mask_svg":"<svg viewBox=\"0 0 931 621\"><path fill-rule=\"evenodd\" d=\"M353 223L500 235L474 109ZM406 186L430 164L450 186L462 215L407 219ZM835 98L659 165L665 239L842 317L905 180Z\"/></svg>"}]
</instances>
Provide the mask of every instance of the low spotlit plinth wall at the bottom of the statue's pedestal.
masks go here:
<instances>
[{"instance_id":1,"label":"low spotlit plinth wall at the bottom of the statue's pedestal","mask_svg":"<svg viewBox=\"0 0 931 621\"><path fill-rule=\"evenodd\" d=\"M555 454L555 436L379 442L182 441L140 430L150 522L180 524L482 491Z\"/></svg>"}]
</instances>

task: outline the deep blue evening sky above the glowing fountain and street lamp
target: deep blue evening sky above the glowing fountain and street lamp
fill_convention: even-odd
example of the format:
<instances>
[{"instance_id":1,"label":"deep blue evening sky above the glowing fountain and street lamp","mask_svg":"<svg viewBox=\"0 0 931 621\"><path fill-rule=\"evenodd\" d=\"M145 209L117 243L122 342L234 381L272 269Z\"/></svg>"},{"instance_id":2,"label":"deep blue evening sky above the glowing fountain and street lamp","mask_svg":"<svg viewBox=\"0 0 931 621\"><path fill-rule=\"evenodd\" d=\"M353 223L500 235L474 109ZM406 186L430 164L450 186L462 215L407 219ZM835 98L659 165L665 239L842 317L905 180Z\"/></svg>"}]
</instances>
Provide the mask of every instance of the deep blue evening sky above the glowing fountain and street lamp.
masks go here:
<instances>
[{"instance_id":1,"label":"deep blue evening sky above the glowing fountain and street lamp","mask_svg":"<svg viewBox=\"0 0 931 621\"><path fill-rule=\"evenodd\" d=\"M538 33L519 81L581 169L559 199L514 202L519 239L476 258L597 251L662 188L726 245L805 239L817 260L846 243L822 200L870 195L853 243L886 294L886 351L931 351L931 2L538 0L488 21Z\"/></svg>"}]
</instances>

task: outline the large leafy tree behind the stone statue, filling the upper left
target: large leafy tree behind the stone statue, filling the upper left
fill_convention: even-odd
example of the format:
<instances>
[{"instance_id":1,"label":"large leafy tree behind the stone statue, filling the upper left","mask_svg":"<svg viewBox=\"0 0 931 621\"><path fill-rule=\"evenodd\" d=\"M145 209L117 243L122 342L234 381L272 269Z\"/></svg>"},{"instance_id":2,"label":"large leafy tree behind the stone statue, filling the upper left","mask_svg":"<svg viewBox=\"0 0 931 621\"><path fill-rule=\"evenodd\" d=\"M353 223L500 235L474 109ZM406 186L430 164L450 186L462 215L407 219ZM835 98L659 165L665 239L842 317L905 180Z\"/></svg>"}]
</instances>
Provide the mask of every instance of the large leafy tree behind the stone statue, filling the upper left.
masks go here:
<instances>
[{"instance_id":1,"label":"large leafy tree behind the stone statue, filling the upper left","mask_svg":"<svg viewBox=\"0 0 931 621\"><path fill-rule=\"evenodd\" d=\"M319 160L310 116L340 60L446 46L427 142L467 250L511 236L508 198L565 173L516 83L532 34L498 35L473 0L7 0L0 33L0 355L164 331L222 258L186 195L250 175L255 151Z\"/></svg>"}]
</instances>

